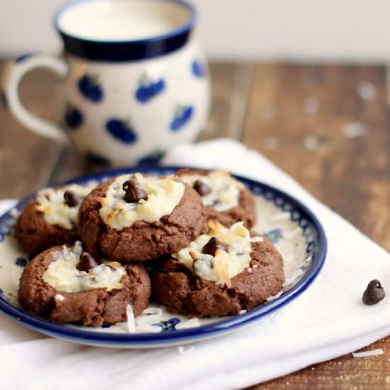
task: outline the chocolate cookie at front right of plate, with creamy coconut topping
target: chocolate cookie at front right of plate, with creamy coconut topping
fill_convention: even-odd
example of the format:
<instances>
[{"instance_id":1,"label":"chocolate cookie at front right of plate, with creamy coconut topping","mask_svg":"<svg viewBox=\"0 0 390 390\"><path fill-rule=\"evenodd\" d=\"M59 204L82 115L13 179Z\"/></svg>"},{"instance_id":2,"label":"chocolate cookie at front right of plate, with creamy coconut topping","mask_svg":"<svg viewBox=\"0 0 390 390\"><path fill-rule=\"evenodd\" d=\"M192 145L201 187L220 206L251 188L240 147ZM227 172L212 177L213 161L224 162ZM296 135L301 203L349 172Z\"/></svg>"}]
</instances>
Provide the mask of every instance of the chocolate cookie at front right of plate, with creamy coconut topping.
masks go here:
<instances>
[{"instance_id":1,"label":"chocolate cookie at front right of plate, with creamy coconut topping","mask_svg":"<svg viewBox=\"0 0 390 390\"><path fill-rule=\"evenodd\" d=\"M260 305L283 282L282 257L267 238L216 225L162 264L153 291L173 313L227 316Z\"/></svg>"}]
</instances>

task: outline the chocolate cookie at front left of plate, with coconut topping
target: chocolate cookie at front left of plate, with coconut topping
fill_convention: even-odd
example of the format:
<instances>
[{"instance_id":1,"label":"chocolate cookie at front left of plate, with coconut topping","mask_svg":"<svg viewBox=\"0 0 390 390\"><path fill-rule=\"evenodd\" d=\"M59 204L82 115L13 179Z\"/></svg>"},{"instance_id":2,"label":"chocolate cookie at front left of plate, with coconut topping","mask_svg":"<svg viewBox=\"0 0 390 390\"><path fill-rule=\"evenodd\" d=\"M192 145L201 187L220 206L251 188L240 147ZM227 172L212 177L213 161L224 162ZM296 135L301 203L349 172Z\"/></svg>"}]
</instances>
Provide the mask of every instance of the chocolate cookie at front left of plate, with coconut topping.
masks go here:
<instances>
[{"instance_id":1,"label":"chocolate cookie at front left of plate, with coconut topping","mask_svg":"<svg viewBox=\"0 0 390 390\"><path fill-rule=\"evenodd\" d=\"M23 270L21 306L56 323L101 325L126 321L130 304L138 316L147 307L150 278L141 264L121 265L82 252L82 244L52 247Z\"/></svg>"}]
</instances>

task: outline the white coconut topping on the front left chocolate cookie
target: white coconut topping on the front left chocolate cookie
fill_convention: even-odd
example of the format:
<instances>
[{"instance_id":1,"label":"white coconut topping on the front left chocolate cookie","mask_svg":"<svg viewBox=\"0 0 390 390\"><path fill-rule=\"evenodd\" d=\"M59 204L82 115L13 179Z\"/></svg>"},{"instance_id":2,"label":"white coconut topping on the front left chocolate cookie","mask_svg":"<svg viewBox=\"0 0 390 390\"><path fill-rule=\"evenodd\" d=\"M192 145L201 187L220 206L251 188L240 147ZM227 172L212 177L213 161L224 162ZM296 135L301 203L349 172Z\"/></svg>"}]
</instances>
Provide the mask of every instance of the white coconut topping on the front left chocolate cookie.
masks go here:
<instances>
[{"instance_id":1,"label":"white coconut topping on the front left chocolate cookie","mask_svg":"<svg viewBox=\"0 0 390 390\"><path fill-rule=\"evenodd\" d=\"M63 246L62 250L51 252L55 258L43 273L43 281L58 291L79 292L106 288L123 289L120 283L126 270L118 262L101 260L103 264L89 269L89 272L79 271L79 256L82 253L82 243L77 241L74 247Z\"/></svg>"}]
</instances>

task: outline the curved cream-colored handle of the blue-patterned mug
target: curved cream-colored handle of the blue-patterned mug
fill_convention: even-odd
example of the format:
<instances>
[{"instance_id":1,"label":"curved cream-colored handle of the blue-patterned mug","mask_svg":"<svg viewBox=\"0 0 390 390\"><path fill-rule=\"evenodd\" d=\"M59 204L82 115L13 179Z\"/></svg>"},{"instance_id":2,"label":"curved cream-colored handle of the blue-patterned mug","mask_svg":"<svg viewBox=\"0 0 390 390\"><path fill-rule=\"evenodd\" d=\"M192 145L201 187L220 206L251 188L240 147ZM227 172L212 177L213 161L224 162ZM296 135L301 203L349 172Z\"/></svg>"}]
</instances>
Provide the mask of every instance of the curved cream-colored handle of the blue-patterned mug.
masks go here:
<instances>
[{"instance_id":1,"label":"curved cream-colored handle of the blue-patterned mug","mask_svg":"<svg viewBox=\"0 0 390 390\"><path fill-rule=\"evenodd\" d=\"M19 99L19 84L26 73L36 67L51 69L62 79L68 74L68 65L65 60L50 55L33 54L19 57L4 75L4 94L6 105L12 115L28 130L43 135L58 143L69 143L66 133L55 123L50 123L29 113Z\"/></svg>"}]
</instances>

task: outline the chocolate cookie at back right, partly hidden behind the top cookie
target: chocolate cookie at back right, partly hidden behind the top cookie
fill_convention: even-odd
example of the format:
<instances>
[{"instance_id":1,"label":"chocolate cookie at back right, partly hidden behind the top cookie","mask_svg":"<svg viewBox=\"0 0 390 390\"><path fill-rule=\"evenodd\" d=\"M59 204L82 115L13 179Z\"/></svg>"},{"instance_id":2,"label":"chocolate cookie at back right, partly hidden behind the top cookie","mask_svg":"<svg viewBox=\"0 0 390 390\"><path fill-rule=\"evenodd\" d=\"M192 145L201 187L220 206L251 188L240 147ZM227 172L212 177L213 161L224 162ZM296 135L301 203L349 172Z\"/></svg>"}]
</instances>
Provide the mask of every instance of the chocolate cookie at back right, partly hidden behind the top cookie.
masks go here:
<instances>
[{"instance_id":1,"label":"chocolate cookie at back right, partly hidden behind the top cookie","mask_svg":"<svg viewBox=\"0 0 390 390\"><path fill-rule=\"evenodd\" d=\"M243 221L247 228L255 224L255 199L228 172L180 169L177 176L199 193L208 219L227 227L238 221Z\"/></svg>"}]
</instances>

